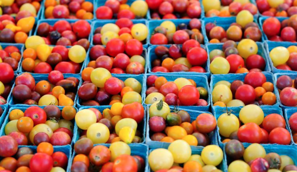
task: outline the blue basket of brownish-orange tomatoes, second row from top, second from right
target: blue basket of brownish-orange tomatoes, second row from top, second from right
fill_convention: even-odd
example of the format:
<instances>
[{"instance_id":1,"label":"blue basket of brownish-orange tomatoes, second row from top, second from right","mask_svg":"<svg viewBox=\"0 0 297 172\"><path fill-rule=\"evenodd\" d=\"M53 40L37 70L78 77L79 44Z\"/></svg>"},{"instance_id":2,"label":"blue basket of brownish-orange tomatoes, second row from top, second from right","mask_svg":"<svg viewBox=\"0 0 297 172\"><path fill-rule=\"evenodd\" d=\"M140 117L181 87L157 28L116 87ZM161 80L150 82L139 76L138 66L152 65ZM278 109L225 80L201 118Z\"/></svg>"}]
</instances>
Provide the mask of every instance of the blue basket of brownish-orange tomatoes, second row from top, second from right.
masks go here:
<instances>
[{"instance_id":1,"label":"blue basket of brownish-orange tomatoes, second row from top, second from right","mask_svg":"<svg viewBox=\"0 0 297 172\"><path fill-rule=\"evenodd\" d=\"M261 27L257 21L257 19L255 19L254 17L254 22L258 25L259 29L261 30ZM205 25L207 23L215 23L217 26L221 26L224 28L225 31L227 31L227 29L230 27L230 25L232 23L236 23L236 17L210 17L210 18L204 18L202 21L202 33L204 33L206 37L206 43L209 43L210 39L206 36L206 29L205 29ZM263 35L263 32L261 30L261 33ZM259 42L263 42L263 38L261 38L261 40Z\"/></svg>"}]
</instances>

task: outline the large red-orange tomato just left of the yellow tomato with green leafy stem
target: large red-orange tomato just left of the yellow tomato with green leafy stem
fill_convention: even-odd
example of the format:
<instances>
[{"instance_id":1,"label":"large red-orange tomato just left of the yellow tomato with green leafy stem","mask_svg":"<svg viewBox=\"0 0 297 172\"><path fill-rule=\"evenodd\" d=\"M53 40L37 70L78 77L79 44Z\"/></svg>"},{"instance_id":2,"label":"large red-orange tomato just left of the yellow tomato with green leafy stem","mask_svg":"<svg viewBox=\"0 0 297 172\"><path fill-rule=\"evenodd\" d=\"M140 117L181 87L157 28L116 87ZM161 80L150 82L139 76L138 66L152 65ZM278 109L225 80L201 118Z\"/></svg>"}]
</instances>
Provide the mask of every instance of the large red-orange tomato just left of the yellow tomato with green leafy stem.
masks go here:
<instances>
[{"instance_id":1,"label":"large red-orange tomato just left of the yellow tomato with green leafy stem","mask_svg":"<svg viewBox=\"0 0 297 172\"><path fill-rule=\"evenodd\" d=\"M144 108L138 102L127 104L122 108L121 116L123 118L132 118L137 123L140 123L144 117Z\"/></svg>"}]
</instances>

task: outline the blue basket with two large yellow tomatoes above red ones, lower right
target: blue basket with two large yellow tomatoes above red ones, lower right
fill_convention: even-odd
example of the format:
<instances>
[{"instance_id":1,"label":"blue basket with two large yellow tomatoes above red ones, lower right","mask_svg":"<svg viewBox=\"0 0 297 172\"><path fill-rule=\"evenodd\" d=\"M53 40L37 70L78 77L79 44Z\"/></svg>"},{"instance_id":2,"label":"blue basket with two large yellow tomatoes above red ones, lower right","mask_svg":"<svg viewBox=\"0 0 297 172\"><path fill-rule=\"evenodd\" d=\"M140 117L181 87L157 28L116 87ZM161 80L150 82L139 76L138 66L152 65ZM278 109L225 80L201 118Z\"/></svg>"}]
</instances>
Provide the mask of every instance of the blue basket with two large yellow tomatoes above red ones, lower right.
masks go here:
<instances>
[{"instance_id":1,"label":"blue basket with two large yellow tomatoes above red ones, lower right","mask_svg":"<svg viewBox=\"0 0 297 172\"><path fill-rule=\"evenodd\" d=\"M279 108L279 107L267 107L266 106L266 107L261 107L261 109L264 112L264 116L267 116L267 115L269 115L271 113L277 113L277 114L280 114L282 117L284 117L283 113L282 113L282 109ZM228 110L232 110L230 112L239 118L239 112L241 110L241 107L236 107L236 108L232 108L232 109L228 108ZM216 117L217 120L218 120L219 116L221 116L223 113L226 113L226 111L222 110L221 108L217 108L217 106L214 107L214 116ZM286 125L286 129L289 131L290 127L288 125ZM217 126L217 136L218 136L219 146L224 147L224 145L226 145L226 143L222 143L223 137L221 137L220 134L219 134L219 127L218 126ZM291 135L291 137L292 137L292 135ZM292 140L291 140L291 143L290 143L291 145L293 144ZM243 143L244 146L248 146L250 144L251 143ZM277 145L278 146L278 144L261 144L261 145Z\"/></svg>"}]
</instances>

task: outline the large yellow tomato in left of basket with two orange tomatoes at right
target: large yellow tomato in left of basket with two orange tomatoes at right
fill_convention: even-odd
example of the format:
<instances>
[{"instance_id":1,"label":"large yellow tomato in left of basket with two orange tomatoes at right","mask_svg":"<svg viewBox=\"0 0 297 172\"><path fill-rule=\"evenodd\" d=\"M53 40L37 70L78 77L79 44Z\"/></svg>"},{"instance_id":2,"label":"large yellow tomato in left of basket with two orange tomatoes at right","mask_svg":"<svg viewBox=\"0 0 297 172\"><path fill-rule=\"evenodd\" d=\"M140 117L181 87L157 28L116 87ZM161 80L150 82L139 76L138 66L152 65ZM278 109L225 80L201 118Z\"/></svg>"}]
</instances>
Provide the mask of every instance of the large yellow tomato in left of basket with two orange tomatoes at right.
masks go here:
<instances>
[{"instance_id":1,"label":"large yellow tomato in left of basket with two orange tomatoes at right","mask_svg":"<svg viewBox=\"0 0 297 172\"><path fill-rule=\"evenodd\" d=\"M212 91L212 101L216 103L217 101L224 102L227 104L232 100L232 92L230 88L226 85L217 85Z\"/></svg>"}]
</instances>

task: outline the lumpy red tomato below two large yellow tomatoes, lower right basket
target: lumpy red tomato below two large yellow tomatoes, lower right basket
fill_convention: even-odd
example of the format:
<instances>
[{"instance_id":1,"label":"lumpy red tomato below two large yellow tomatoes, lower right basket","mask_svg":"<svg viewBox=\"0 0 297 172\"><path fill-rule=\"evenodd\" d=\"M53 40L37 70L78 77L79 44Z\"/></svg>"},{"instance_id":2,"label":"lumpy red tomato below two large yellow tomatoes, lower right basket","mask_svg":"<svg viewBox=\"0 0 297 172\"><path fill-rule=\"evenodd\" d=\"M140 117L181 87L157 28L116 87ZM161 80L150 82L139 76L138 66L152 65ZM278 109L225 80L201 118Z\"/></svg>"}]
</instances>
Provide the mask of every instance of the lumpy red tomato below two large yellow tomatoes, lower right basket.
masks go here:
<instances>
[{"instance_id":1,"label":"lumpy red tomato below two large yellow tomatoes, lower right basket","mask_svg":"<svg viewBox=\"0 0 297 172\"><path fill-rule=\"evenodd\" d=\"M253 122L239 127L237 136L241 142L260 143L262 141L261 128Z\"/></svg>"}]
</instances>

